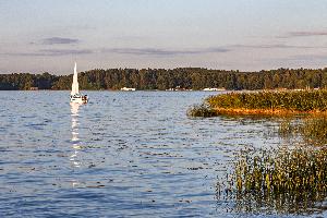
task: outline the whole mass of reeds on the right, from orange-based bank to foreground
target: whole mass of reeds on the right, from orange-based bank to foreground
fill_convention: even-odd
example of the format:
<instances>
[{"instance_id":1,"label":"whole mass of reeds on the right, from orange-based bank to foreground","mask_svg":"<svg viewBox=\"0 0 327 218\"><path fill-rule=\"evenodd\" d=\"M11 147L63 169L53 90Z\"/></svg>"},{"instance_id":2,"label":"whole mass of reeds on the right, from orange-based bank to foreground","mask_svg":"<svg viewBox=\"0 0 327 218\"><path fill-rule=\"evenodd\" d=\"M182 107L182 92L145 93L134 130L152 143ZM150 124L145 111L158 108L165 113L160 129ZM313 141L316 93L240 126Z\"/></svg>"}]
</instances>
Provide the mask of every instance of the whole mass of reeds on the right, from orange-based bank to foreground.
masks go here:
<instances>
[{"instance_id":1,"label":"whole mass of reeds on the right, from orange-based bank to foreground","mask_svg":"<svg viewBox=\"0 0 327 218\"><path fill-rule=\"evenodd\" d=\"M211 96L187 114L282 116L274 119L282 144L240 150L231 172L218 183L218 196L232 199L238 213L305 215L326 210L326 89L265 90Z\"/></svg>"}]
</instances>

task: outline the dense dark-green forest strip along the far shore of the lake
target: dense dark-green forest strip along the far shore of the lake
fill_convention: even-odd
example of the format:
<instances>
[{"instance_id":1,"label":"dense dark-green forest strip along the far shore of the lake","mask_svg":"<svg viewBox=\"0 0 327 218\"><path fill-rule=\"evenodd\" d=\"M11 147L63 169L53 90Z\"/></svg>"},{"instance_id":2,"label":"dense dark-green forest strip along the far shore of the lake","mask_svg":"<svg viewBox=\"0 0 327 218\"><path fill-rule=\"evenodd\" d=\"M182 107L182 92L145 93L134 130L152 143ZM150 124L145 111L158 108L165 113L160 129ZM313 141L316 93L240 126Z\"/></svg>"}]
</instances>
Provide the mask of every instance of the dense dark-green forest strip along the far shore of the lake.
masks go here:
<instances>
[{"instance_id":1,"label":"dense dark-green forest strip along the far shore of the lake","mask_svg":"<svg viewBox=\"0 0 327 218\"><path fill-rule=\"evenodd\" d=\"M49 73L0 74L0 89L70 89L71 75ZM78 73L81 89L271 89L271 88L318 88L327 87L327 68L278 69L259 72L208 70L201 68L165 69L109 69Z\"/></svg>"}]
</instances>

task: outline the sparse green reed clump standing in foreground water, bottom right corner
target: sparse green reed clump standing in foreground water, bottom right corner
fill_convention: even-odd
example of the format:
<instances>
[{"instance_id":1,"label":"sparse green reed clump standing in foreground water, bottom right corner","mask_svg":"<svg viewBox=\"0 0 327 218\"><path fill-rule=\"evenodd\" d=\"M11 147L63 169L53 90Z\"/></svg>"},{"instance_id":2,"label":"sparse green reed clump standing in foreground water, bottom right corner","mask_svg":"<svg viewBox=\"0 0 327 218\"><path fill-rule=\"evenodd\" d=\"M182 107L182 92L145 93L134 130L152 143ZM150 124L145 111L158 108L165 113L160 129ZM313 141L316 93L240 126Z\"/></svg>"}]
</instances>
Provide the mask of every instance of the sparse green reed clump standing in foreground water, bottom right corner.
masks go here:
<instances>
[{"instance_id":1,"label":"sparse green reed clump standing in foreground water, bottom right corner","mask_svg":"<svg viewBox=\"0 0 327 218\"><path fill-rule=\"evenodd\" d=\"M262 150L239 157L231 177L234 209L306 214L324 210L327 149Z\"/></svg>"}]
</instances>

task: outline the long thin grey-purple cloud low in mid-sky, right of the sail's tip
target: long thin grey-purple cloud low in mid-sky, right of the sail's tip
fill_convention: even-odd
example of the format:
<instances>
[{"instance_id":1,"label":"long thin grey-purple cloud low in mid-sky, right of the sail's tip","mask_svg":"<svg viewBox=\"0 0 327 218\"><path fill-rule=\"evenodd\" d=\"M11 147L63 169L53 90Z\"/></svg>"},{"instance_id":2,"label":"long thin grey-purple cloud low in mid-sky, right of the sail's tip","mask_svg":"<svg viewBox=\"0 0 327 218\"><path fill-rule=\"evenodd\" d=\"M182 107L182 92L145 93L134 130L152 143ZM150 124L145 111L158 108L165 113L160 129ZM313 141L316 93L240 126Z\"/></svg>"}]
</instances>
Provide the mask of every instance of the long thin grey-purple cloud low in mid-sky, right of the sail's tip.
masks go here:
<instances>
[{"instance_id":1,"label":"long thin grey-purple cloud low in mid-sky, right of the sail's tip","mask_svg":"<svg viewBox=\"0 0 327 218\"><path fill-rule=\"evenodd\" d=\"M181 56L181 55L201 55L201 53L223 53L228 52L226 48L205 48L205 49L157 49L157 48L111 48L101 49L100 52L135 55L135 56Z\"/></svg>"}]
</instances>

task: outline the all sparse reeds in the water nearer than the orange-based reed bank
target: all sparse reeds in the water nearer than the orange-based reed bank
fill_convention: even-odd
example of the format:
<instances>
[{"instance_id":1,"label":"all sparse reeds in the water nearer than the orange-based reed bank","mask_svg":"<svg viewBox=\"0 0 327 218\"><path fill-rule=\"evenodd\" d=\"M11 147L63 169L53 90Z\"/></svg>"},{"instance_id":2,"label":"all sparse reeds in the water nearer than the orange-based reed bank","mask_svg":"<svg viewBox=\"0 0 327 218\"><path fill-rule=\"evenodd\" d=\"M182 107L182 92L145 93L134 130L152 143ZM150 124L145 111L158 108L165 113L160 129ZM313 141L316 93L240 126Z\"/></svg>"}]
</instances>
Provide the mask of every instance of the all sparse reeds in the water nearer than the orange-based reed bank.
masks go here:
<instances>
[{"instance_id":1,"label":"all sparse reeds in the water nearer than the orange-based reed bank","mask_svg":"<svg viewBox=\"0 0 327 218\"><path fill-rule=\"evenodd\" d=\"M242 149L218 196L238 213L314 214L326 210L327 117L278 119L278 147ZM290 141L290 138L296 138Z\"/></svg>"}]
</instances>

